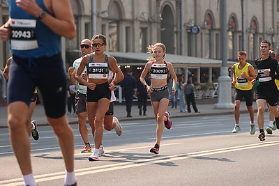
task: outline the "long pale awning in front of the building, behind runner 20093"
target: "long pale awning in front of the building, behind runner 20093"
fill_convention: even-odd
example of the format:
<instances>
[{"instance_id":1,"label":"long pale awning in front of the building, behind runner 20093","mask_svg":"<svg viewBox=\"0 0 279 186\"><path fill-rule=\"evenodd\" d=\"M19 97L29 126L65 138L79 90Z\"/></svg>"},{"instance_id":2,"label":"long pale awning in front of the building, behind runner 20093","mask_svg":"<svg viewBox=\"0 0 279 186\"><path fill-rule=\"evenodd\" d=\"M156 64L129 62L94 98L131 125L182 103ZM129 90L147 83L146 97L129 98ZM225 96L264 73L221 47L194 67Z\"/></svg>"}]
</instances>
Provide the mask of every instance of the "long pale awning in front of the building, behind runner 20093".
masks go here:
<instances>
[{"instance_id":1,"label":"long pale awning in front of the building, behind runner 20093","mask_svg":"<svg viewBox=\"0 0 279 186\"><path fill-rule=\"evenodd\" d=\"M118 59L119 65L144 65L146 59L149 58L150 54L146 53L135 53L135 52L106 52L111 56ZM120 59L120 60L119 60ZM121 59L134 59L137 63L121 63ZM166 54L165 61L171 62L174 67L187 67L187 68L199 68L199 67L221 67L222 61L219 59L204 59L192 56L180 56L175 54ZM227 66L231 67L236 61L227 61Z\"/></svg>"}]
</instances>

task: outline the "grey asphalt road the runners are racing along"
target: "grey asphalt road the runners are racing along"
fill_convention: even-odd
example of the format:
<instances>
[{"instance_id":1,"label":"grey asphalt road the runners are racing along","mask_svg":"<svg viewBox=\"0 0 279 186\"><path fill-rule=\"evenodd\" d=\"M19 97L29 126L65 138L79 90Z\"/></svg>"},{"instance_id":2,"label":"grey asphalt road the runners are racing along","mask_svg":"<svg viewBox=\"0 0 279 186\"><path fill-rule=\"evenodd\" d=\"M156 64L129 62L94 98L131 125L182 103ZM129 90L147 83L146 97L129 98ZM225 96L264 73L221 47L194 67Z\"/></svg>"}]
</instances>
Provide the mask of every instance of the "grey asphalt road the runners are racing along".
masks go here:
<instances>
[{"instance_id":1,"label":"grey asphalt road the runners are racing along","mask_svg":"<svg viewBox=\"0 0 279 186\"><path fill-rule=\"evenodd\" d=\"M173 118L172 129L164 131L160 155L149 153L156 140L154 120L122 122L121 137L105 131L106 155L98 162L87 160L90 153L80 153L78 125L71 125L78 185L278 185L278 130L262 142L258 131L249 133L248 114L242 114L240 122L241 132L232 134L232 115ZM38 130L40 139L31 139L36 181L63 185L56 138L50 127ZM0 130L0 139L0 185L23 185L8 129Z\"/></svg>"}]
</instances>

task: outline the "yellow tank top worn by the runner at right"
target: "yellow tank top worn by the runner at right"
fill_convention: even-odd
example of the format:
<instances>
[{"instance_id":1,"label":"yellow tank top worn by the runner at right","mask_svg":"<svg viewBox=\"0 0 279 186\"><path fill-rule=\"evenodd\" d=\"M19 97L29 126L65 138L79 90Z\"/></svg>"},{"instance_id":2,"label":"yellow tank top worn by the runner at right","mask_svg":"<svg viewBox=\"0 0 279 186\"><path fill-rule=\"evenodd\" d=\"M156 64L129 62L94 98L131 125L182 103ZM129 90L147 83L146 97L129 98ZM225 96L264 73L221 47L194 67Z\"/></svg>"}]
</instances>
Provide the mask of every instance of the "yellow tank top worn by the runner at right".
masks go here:
<instances>
[{"instance_id":1,"label":"yellow tank top worn by the runner at right","mask_svg":"<svg viewBox=\"0 0 279 186\"><path fill-rule=\"evenodd\" d=\"M243 90L243 91L251 90L252 89L251 81L241 77L241 72L245 72L246 75L249 75L248 68L251 64L246 63L246 65L242 69L239 69L239 64L240 63L236 63L234 65L234 74L236 76L236 84L234 86L235 86L235 88L237 88L239 90Z\"/></svg>"}]
</instances>

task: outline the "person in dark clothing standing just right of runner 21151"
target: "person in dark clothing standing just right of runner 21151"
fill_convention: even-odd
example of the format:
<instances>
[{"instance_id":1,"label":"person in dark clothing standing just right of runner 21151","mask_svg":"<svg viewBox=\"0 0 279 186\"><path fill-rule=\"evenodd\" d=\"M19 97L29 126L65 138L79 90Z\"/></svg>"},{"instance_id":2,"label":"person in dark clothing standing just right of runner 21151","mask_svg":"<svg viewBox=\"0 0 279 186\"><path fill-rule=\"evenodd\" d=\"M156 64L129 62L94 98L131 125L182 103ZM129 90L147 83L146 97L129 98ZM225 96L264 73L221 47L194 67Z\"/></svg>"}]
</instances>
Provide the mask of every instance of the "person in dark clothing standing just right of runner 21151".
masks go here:
<instances>
[{"instance_id":1,"label":"person in dark clothing standing just right of runner 21151","mask_svg":"<svg viewBox=\"0 0 279 186\"><path fill-rule=\"evenodd\" d=\"M135 95L135 88L137 87L137 80L133 77L133 69L129 68L127 74L125 75L123 81L121 82L121 87L123 88L123 95L126 102L127 117L132 117L132 105L133 98Z\"/></svg>"}]
</instances>

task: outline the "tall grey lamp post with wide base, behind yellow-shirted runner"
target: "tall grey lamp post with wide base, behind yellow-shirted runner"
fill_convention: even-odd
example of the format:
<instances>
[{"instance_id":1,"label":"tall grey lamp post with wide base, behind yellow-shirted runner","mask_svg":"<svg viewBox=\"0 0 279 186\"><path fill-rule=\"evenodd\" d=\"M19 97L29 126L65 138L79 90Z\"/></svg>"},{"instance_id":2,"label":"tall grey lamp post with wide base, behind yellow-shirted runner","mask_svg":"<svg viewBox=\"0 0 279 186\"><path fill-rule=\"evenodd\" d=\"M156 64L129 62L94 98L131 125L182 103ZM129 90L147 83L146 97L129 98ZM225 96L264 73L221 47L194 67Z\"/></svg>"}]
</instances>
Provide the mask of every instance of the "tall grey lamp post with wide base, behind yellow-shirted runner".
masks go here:
<instances>
[{"instance_id":1,"label":"tall grey lamp post with wide base, behind yellow-shirted runner","mask_svg":"<svg viewBox=\"0 0 279 186\"><path fill-rule=\"evenodd\" d=\"M228 109L234 107L234 104L232 104L232 79L227 68L227 0L220 0L220 11L222 67L218 78L218 103L215 107Z\"/></svg>"}]
</instances>

